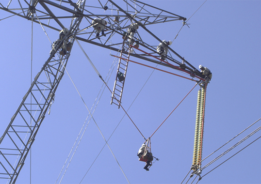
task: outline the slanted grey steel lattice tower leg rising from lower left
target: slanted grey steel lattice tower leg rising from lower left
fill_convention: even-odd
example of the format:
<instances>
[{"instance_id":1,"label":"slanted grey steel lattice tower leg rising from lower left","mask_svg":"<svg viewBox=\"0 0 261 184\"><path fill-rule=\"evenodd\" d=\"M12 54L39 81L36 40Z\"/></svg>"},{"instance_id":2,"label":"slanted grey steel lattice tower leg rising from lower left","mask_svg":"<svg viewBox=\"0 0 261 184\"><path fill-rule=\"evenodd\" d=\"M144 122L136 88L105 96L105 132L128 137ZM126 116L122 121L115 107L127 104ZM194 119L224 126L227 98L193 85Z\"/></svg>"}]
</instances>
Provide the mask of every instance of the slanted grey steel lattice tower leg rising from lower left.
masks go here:
<instances>
[{"instance_id":1,"label":"slanted grey steel lattice tower leg rising from lower left","mask_svg":"<svg viewBox=\"0 0 261 184\"><path fill-rule=\"evenodd\" d=\"M65 39L73 44L81 20L82 16L74 19L74 24L65 38L55 47L56 51L59 51ZM51 54L34 78L31 87L0 138L0 179L6 179L10 184L16 182L39 127L54 100L70 51L64 56L58 54L59 59L54 59L54 54L55 52Z\"/></svg>"}]
</instances>

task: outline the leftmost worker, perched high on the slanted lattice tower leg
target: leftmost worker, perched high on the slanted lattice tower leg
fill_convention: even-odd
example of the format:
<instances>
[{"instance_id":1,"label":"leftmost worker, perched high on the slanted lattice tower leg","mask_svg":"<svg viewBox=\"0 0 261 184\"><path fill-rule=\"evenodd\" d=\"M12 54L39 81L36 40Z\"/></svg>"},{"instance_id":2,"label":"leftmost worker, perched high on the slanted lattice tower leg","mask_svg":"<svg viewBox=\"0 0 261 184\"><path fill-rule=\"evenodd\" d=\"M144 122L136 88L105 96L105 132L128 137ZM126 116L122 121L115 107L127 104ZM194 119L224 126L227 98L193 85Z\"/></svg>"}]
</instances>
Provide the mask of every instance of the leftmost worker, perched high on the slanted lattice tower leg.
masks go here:
<instances>
[{"instance_id":1,"label":"leftmost worker, perched high on the slanted lattice tower leg","mask_svg":"<svg viewBox=\"0 0 261 184\"><path fill-rule=\"evenodd\" d=\"M61 30L61 31L59 32L59 38L58 38L55 42L52 43L52 46L51 46L52 49L51 49L51 51L50 51L50 55L52 55L52 53L55 51L55 47L60 44L60 42L65 38L65 35L66 35L68 32L69 32L69 30L68 30L67 28L64 28L63 30ZM61 54L61 55L66 55L67 51L70 50L71 43L67 43L67 42L68 42L68 37L64 39L63 44L62 44L62 46L61 46L61 47L62 47L62 49L61 49L61 51L60 51L60 54ZM59 48L58 48L58 49L59 49ZM58 50L58 49L57 49L57 50ZM53 57L54 57L54 55L53 55Z\"/></svg>"}]
</instances>

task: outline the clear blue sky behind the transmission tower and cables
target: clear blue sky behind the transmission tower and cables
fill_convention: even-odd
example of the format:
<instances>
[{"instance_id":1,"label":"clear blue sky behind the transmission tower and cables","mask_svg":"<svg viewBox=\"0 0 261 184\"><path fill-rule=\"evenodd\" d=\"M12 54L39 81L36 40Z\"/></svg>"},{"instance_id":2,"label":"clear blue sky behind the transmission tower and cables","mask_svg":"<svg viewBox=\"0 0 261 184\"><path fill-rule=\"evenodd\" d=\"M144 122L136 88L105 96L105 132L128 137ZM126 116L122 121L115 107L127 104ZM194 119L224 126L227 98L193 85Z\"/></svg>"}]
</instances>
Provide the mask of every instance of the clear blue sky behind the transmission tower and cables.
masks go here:
<instances>
[{"instance_id":1,"label":"clear blue sky behind the transmission tower and cables","mask_svg":"<svg viewBox=\"0 0 261 184\"><path fill-rule=\"evenodd\" d=\"M1 1L3 5L7 2L7 0ZM106 3L106 1L102 2ZM115 2L121 3L119 0ZM190 18L204 0L145 0L144 2ZM261 0L207 0L187 22L190 28L184 26L171 45L172 49L195 67L202 64L212 71L213 77L208 85L206 96L203 158L261 118L260 8ZM11 15L5 11L0 12L0 19ZM162 40L172 41L181 26L182 21L174 21L147 26L147 29ZM0 30L0 134L2 135L30 87L32 25L31 21L13 16L0 21ZM58 38L57 31L47 29L47 33L52 42ZM144 39L149 37L144 31L140 34ZM154 42L155 46L159 44L156 40ZM115 52L86 43L81 44L105 78L114 62L114 57L110 56L110 53L115 54ZM41 26L33 24L33 78L48 59L50 46ZM135 61L134 58L131 59ZM110 104L110 92L102 87L102 81L76 43L66 68L89 109L100 89L102 90L93 117L104 137L108 139L124 116L124 111ZM149 77L152 72L150 68L130 63L122 99L123 107L128 109L141 91L128 114L145 137L149 137L155 131L195 85L193 81L160 71L154 71ZM172 72L180 74L176 71ZM116 68L108 81L111 89L115 75ZM108 144L130 183L179 184L184 179L192 164L198 89L199 86L189 94L151 138L152 153L160 161L155 162L149 171L143 169L144 163L139 162L136 156L144 139L130 119L126 116L123 118ZM67 74L63 77L55 96L50 115L47 115L37 133L32 154L28 155L16 184L30 183L30 165L32 184L54 184L88 116L88 110ZM82 184L128 183L107 145L94 162L105 144L95 122L90 121L63 177L62 184L79 184L81 181ZM255 128L260 125L261 122ZM202 163L202 166L247 134L212 155ZM245 144L239 145L224 158L204 169L202 175L260 135L260 132L255 134ZM260 140L256 141L204 176L199 183L261 183L260 143ZM88 171L93 162L93 166ZM60 180L61 176L57 183Z\"/></svg>"}]
</instances>

